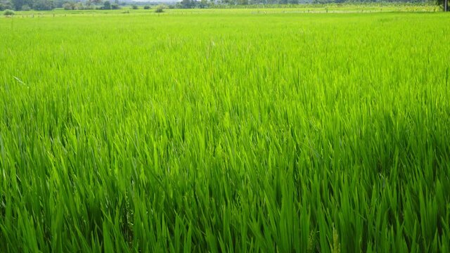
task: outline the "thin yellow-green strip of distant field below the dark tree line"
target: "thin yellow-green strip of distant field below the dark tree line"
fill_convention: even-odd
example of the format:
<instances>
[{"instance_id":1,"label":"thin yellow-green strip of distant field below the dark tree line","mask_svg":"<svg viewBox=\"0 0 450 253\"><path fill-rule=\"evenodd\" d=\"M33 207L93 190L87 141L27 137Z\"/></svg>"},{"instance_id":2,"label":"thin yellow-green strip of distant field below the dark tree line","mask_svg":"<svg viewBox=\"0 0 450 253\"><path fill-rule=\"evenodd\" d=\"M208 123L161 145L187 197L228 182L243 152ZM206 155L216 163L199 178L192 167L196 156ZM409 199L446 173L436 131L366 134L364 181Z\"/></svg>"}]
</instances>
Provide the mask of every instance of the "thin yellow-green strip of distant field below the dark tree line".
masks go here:
<instances>
[{"instance_id":1,"label":"thin yellow-green strip of distant field below the dark tree line","mask_svg":"<svg viewBox=\"0 0 450 253\"><path fill-rule=\"evenodd\" d=\"M380 12L441 12L442 6L431 3L364 3L364 4L259 4L259 5L216 5L211 8L181 8L170 9L165 6L163 13L155 13L156 6L150 6L145 10L143 6L132 9L131 6L120 6L119 10L75 10L66 11L63 8L55 8L53 11L16 11L16 18L39 18L39 17L67 17L72 15L256 15L276 13L380 13Z\"/></svg>"}]
</instances>

